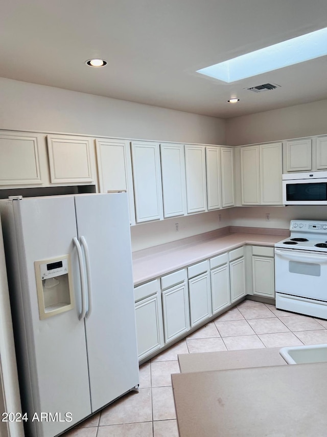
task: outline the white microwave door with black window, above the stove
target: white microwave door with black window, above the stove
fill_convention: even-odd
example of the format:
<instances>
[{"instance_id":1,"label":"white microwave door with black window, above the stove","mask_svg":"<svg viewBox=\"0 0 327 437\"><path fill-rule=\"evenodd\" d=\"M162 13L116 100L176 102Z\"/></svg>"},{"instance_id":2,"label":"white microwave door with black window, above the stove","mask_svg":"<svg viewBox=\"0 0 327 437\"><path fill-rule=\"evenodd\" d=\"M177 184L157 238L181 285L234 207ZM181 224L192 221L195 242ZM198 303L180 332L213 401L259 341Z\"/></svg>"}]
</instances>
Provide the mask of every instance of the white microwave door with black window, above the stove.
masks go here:
<instances>
[{"instance_id":1,"label":"white microwave door with black window, above the stove","mask_svg":"<svg viewBox=\"0 0 327 437\"><path fill-rule=\"evenodd\" d=\"M283 180L284 205L327 205L327 179Z\"/></svg>"}]
</instances>

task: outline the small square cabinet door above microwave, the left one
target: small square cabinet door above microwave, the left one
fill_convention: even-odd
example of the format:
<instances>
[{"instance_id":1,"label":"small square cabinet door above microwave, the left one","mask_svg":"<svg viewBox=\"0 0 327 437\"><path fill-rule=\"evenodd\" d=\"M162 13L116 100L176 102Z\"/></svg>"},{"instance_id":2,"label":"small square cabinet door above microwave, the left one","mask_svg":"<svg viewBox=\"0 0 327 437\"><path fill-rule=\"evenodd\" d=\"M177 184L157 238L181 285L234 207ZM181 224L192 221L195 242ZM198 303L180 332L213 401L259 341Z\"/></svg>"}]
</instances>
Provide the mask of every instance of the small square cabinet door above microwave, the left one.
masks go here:
<instances>
[{"instance_id":1,"label":"small square cabinet door above microwave, the left one","mask_svg":"<svg viewBox=\"0 0 327 437\"><path fill-rule=\"evenodd\" d=\"M286 141L286 172L311 170L311 139Z\"/></svg>"}]
</instances>

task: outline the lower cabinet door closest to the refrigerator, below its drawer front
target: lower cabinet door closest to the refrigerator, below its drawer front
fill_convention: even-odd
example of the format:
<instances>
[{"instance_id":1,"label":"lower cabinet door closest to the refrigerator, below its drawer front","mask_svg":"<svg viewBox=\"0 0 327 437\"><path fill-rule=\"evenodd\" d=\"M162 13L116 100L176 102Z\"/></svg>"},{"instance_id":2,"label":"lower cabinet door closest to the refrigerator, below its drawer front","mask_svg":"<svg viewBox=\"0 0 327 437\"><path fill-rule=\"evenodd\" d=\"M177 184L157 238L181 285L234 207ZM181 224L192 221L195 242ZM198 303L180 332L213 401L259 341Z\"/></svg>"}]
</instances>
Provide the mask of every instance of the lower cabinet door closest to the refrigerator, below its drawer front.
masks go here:
<instances>
[{"instance_id":1,"label":"lower cabinet door closest to the refrigerator, below its drawer front","mask_svg":"<svg viewBox=\"0 0 327 437\"><path fill-rule=\"evenodd\" d=\"M138 359L142 360L164 346L160 295L135 303L135 318Z\"/></svg>"}]
</instances>

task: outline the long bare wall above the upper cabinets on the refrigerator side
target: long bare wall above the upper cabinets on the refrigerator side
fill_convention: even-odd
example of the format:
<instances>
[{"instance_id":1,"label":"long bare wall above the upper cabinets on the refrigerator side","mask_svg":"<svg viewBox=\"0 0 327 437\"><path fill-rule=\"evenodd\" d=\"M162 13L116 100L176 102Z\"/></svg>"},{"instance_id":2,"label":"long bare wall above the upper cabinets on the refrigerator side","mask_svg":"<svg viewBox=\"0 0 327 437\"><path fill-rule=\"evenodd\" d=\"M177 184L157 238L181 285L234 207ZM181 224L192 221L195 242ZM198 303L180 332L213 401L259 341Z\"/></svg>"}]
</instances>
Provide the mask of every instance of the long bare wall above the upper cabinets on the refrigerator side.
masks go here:
<instances>
[{"instance_id":1,"label":"long bare wall above the upper cabinets on the refrigerator side","mask_svg":"<svg viewBox=\"0 0 327 437\"><path fill-rule=\"evenodd\" d=\"M225 120L0 78L0 129L225 144Z\"/></svg>"}]
</instances>

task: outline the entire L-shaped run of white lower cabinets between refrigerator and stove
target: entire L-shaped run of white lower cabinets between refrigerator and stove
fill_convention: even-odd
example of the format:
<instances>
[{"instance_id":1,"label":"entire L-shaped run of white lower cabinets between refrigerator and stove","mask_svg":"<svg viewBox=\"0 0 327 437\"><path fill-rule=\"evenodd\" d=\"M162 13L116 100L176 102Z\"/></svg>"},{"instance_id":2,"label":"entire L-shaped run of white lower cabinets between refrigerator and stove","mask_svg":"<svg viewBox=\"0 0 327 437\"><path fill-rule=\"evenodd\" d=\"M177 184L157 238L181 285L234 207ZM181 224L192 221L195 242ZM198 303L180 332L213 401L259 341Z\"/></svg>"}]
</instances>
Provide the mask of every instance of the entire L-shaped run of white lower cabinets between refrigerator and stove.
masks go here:
<instances>
[{"instance_id":1,"label":"entire L-shaped run of white lower cabinets between refrigerator and stove","mask_svg":"<svg viewBox=\"0 0 327 437\"><path fill-rule=\"evenodd\" d=\"M237 247L135 287L139 361L247 294L274 298L273 247Z\"/></svg>"}]
</instances>

